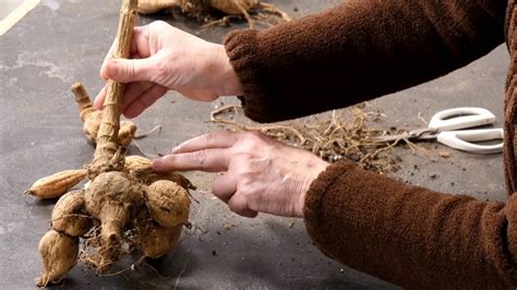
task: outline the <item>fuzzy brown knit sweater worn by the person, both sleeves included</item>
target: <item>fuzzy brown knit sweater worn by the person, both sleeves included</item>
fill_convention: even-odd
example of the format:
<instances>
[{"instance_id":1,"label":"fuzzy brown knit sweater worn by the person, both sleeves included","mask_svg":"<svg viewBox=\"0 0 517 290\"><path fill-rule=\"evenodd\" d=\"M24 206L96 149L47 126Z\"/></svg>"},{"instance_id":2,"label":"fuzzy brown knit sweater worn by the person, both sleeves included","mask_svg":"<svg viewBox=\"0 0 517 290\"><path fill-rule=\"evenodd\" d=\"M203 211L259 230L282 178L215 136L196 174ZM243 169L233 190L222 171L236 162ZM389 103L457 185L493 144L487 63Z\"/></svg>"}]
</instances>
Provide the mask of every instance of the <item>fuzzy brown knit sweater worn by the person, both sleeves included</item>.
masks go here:
<instances>
[{"instance_id":1,"label":"fuzzy brown knit sweater worn by the person, both sleeves included","mask_svg":"<svg viewBox=\"0 0 517 290\"><path fill-rule=\"evenodd\" d=\"M244 87L247 116L269 122L444 75L502 44L505 27L508 39L517 39L513 10L506 0L350 0L267 31L231 33L225 45ZM513 41L508 47L514 61L505 134L514 136L517 53ZM510 192L517 180L513 140L505 147ZM517 286L516 196L506 204L483 203L340 162L311 184L304 215L321 251L387 281L419 289L505 289Z\"/></svg>"}]
</instances>

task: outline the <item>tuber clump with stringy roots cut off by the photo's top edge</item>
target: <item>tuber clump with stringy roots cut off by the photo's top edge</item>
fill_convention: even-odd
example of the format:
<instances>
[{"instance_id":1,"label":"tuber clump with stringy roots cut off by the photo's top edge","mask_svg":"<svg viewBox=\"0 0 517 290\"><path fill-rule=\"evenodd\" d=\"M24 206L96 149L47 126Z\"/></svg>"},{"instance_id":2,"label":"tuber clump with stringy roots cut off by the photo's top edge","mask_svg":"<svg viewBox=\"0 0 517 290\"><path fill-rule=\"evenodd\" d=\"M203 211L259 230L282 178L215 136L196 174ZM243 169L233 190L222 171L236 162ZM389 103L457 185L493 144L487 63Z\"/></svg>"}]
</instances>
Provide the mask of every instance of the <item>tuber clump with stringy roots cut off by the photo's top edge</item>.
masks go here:
<instances>
[{"instance_id":1,"label":"tuber clump with stringy roots cut off by the photo's top edge","mask_svg":"<svg viewBox=\"0 0 517 290\"><path fill-rule=\"evenodd\" d=\"M140 0L139 13L152 14L165 9L179 8L187 15L202 19L205 22L209 20L209 12L216 10L226 14L223 19L209 22L213 24L226 24L230 17L244 16L250 28L253 28L253 16L251 12L265 12L279 16L282 21L291 21L287 13L280 11L275 5L264 3L260 0ZM256 19L256 17L255 17Z\"/></svg>"}]
</instances>

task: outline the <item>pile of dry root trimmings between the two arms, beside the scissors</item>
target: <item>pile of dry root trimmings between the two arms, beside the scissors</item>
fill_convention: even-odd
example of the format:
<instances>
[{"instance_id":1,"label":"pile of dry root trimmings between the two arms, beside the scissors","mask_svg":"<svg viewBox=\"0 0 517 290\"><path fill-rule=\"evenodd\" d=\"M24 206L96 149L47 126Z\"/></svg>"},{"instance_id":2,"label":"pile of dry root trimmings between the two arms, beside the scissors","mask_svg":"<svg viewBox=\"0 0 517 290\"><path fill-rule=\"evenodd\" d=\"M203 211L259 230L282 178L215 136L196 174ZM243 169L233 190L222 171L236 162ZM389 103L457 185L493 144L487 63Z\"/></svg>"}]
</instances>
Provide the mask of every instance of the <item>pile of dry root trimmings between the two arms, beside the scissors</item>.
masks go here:
<instances>
[{"instance_id":1,"label":"pile of dry root trimmings between the two arms, beside the scissors","mask_svg":"<svg viewBox=\"0 0 517 290\"><path fill-rule=\"evenodd\" d=\"M394 147L410 143L378 143L373 138L385 134L385 130L372 128L382 114L365 111L364 104L351 107L348 113L333 111L329 118L312 118L304 122L256 125L241 120L242 108L230 105L212 111L211 121L223 124L228 130L260 131L268 136L312 152L329 162L349 160L359 167L380 173L398 170L401 160ZM350 114L350 118L345 118ZM390 131L396 129L392 128Z\"/></svg>"}]
</instances>

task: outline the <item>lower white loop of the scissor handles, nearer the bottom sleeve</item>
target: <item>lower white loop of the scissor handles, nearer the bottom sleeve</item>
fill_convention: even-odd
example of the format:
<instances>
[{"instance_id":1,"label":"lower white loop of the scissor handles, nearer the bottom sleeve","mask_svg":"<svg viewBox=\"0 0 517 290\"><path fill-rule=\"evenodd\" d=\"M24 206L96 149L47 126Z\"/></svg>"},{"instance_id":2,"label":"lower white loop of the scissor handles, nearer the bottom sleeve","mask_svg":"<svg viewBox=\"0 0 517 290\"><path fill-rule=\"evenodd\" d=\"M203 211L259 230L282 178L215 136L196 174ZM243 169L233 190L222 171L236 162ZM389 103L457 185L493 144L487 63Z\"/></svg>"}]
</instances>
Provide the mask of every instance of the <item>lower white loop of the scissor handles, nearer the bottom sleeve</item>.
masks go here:
<instances>
[{"instance_id":1,"label":"lower white loop of the scissor handles, nearer the bottom sleeve","mask_svg":"<svg viewBox=\"0 0 517 290\"><path fill-rule=\"evenodd\" d=\"M478 129L465 131L445 131L437 134L436 140L452 148L477 154L493 154L503 150L503 143L479 145L471 142L502 140L503 129Z\"/></svg>"}]
</instances>

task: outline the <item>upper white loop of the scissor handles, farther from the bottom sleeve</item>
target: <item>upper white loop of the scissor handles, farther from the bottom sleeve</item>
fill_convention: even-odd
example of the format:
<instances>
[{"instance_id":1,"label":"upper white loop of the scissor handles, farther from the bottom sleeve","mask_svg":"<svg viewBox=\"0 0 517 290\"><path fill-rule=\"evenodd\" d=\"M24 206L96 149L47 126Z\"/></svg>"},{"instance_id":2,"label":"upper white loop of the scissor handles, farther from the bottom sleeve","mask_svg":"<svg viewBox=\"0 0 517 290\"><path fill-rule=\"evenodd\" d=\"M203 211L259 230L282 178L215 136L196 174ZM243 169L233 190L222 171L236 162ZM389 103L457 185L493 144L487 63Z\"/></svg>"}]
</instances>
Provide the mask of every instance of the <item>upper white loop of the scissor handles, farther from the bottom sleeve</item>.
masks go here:
<instances>
[{"instance_id":1,"label":"upper white loop of the scissor handles, farther from the bottom sleeve","mask_svg":"<svg viewBox=\"0 0 517 290\"><path fill-rule=\"evenodd\" d=\"M462 107L438 111L431 118L429 128L450 131L495 122L495 116L483 108Z\"/></svg>"}]
</instances>

